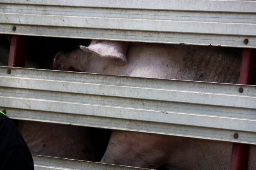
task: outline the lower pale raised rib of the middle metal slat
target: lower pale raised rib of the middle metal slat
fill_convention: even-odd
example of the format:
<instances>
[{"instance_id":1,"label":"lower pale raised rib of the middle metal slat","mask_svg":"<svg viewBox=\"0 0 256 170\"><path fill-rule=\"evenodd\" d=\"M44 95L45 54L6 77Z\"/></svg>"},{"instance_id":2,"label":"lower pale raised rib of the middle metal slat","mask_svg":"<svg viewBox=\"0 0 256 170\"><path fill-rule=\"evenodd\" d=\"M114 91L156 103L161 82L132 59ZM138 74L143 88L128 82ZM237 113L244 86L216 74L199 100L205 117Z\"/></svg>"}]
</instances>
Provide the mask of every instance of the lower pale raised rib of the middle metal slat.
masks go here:
<instances>
[{"instance_id":1,"label":"lower pale raised rib of the middle metal slat","mask_svg":"<svg viewBox=\"0 0 256 170\"><path fill-rule=\"evenodd\" d=\"M22 99L17 97L0 97L0 101L2 103L1 106L8 108L30 109L47 112L53 111L56 113L69 112L69 114L84 114L86 116L102 116L190 126L196 124L196 126L199 127L256 132L256 121L250 119L243 120L232 117L218 117L201 114L175 113L172 111L163 110L134 109L92 104L77 104L40 99ZM228 122L228 124L225 124L225 122Z\"/></svg>"}]
</instances>

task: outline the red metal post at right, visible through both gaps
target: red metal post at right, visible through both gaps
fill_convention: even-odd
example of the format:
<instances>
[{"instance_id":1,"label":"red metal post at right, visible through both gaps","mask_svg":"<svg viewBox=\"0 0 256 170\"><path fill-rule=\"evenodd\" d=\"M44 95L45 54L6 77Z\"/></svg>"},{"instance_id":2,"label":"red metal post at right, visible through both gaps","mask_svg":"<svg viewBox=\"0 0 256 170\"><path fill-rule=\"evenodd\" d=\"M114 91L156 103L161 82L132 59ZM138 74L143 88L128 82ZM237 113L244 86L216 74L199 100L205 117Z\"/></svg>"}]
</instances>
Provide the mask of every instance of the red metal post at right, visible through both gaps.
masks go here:
<instances>
[{"instance_id":1,"label":"red metal post at right, visible through both gaps","mask_svg":"<svg viewBox=\"0 0 256 170\"><path fill-rule=\"evenodd\" d=\"M240 84L255 85L256 77L256 50L243 49L242 65L240 70ZM231 170L247 170L249 145L233 143Z\"/></svg>"}]
</instances>

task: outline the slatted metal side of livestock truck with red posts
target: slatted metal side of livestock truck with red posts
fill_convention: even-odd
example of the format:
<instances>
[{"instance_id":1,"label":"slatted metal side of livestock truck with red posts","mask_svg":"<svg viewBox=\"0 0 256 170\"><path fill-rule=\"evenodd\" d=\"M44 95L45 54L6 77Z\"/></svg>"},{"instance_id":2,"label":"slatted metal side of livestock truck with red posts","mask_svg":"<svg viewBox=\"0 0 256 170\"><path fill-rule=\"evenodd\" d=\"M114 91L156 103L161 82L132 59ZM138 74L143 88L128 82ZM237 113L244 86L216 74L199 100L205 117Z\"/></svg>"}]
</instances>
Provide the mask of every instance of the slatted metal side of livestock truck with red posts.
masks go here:
<instances>
[{"instance_id":1,"label":"slatted metal side of livestock truck with red posts","mask_svg":"<svg viewBox=\"0 0 256 170\"><path fill-rule=\"evenodd\" d=\"M249 144L256 144L256 1L1 0L0 34L10 41L8 67L0 66L0 110L13 120L233 142L231 170L247 169ZM73 39L238 48L239 84L20 68L26 56L53 59L46 51ZM182 104L188 107L172 110ZM36 170L142 169L33 159Z\"/></svg>"}]
</instances>

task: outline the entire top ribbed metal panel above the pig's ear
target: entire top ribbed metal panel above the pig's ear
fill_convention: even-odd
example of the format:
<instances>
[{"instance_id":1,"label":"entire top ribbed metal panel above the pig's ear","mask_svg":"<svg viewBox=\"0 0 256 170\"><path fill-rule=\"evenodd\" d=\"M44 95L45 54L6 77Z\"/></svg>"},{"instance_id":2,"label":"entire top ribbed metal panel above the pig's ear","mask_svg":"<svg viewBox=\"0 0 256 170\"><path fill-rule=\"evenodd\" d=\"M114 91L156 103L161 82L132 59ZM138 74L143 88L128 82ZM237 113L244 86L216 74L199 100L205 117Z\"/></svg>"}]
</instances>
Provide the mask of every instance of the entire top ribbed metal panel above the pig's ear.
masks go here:
<instances>
[{"instance_id":1,"label":"entire top ribbed metal panel above the pig's ear","mask_svg":"<svg viewBox=\"0 0 256 170\"><path fill-rule=\"evenodd\" d=\"M5 34L256 47L254 1L4 0L0 7Z\"/></svg>"}]
</instances>

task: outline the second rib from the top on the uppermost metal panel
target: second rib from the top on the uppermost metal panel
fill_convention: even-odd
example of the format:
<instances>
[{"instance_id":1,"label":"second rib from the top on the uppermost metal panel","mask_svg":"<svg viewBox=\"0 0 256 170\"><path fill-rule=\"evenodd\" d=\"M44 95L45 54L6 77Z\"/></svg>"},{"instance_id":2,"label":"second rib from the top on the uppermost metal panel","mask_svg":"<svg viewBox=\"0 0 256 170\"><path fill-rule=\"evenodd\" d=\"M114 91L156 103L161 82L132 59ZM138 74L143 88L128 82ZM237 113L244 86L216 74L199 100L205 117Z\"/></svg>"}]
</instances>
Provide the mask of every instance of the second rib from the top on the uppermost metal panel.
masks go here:
<instances>
[{"instance_id":1,"label":"second rib from the top on the uppermost metal panel","mask_svg":"<svg viewBox=\"0 0 256 170\"><path fill-rule=\"evenodd\" d=\"M73 17L99 17L117 19L147 19L147 20L173 20L173 21L196 21L196 22L219 22L219 23L255 23L255 14L243 12L234 15L228 12L190 12L190 11L155 11L150 9L119 9L119 8L93 8L72 6L34 6L3 4L0 12L13 14L55 15Z\"/></svg>"}]
</instances>

